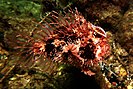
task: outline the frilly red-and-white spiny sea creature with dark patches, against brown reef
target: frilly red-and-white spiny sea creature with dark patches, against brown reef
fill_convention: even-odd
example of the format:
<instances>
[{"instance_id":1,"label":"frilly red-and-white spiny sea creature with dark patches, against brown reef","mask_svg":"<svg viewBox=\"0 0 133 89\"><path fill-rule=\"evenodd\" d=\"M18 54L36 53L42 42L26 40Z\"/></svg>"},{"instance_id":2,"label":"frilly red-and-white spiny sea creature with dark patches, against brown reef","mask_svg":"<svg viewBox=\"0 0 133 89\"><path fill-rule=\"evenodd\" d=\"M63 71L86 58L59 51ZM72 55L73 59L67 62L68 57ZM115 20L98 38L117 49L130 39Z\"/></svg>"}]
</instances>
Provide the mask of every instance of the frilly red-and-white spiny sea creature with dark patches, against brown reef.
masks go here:
<instances>
[{"instance_id":1,"label":"frilly red-and-white spiny sea creature with dark patches, against brown reef","mask_svg":"<svg viewBox=\"0 0 133 89\"><path fill-rule=\"evenodd\" d=\"M89 67L98 65L109 54L105 31L94 26L77 11L58 14L52 11L34 29L32 36L16 36L21 49L19 55L27 61L53 60L72 64L87 75L94 75Z\"/></svg>"}]
</instances>

